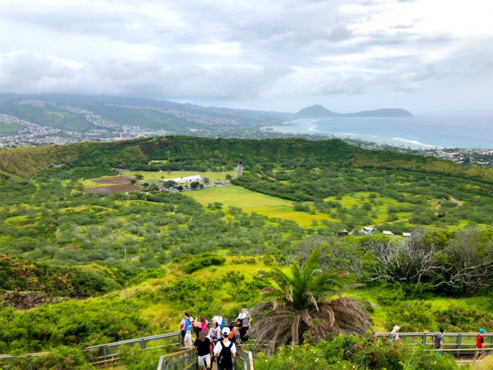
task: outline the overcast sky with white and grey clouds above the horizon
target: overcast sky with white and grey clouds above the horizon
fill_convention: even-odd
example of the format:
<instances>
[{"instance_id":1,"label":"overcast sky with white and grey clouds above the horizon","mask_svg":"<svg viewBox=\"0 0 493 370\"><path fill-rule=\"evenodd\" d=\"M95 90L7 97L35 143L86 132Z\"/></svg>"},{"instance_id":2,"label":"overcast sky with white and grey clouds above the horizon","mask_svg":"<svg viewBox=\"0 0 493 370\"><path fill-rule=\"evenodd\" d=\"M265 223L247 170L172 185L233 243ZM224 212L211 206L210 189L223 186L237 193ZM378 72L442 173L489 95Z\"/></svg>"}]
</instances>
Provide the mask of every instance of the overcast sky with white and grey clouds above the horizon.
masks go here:
<instances>
[{"instance_id":1,"label":"overcast sky with white and grey clouds above the horizon","mask_svg":"<svg viewBox=\"0 0 493 370\"><path fill-rule=\"evenodd\" d=\"M0 92L491 109L491 0L1 0Z\"/></svg>"}]
</instances>

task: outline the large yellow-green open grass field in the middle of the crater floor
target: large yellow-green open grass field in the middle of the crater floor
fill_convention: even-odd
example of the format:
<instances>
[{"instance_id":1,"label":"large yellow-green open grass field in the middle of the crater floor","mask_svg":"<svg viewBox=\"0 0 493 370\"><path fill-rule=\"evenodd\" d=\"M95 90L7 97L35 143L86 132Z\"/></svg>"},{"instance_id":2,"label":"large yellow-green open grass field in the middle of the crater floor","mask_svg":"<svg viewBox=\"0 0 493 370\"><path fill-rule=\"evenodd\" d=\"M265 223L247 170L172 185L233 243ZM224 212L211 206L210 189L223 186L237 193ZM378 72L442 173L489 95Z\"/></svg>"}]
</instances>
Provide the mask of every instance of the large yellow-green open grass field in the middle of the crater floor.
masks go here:
<instances>
[{"instance_id":1,"label":"large yellow-green open grass field in the middle of the crater floor","mask_svg":"<svg viewBox=\"0 0 493 370\"><path fill-rule=\"evenodd\" d=\"M201 204L220 202L223 207L237 206L244 212L256 212L268 217L284 218L295 221L299 226L310 226L311 220L335 221L326 214L307 214L306 212L294 211L293 202L270 195L246 190L244 187L230 185L227 187L211 187L209 189L187 192L189 197L194 198Z\"/></svg>"}]
</instances>

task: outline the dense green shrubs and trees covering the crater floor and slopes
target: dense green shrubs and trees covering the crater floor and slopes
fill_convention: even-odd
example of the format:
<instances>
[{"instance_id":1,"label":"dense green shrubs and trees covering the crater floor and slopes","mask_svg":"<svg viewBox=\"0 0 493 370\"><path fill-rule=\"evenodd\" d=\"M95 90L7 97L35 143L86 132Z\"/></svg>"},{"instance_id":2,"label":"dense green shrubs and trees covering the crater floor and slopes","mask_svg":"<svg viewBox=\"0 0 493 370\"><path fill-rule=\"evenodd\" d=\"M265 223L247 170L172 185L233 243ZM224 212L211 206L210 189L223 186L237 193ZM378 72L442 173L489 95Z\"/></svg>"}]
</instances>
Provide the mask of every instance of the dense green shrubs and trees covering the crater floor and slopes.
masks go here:
<instances>
[{"instance_id":1,"label":"dense green shrubs and trees covering the crater floor and slopes","mask_svg":"<svg viewBox=\"0 0 493 370\"><path fill-rule=\"evenodd\" d=\"M317 214L321 221L300 226L223 206L221 199L201 204L187 193L84 192L88 179L117 175L114 167L226 171L239 158L245 171L237 186L289 199L300 218ZM493 171L486 168L375 153L339 140L168 137L9 149L0 152L0 173L0 293L78 298L28 311L5 302L0 352L49 350L46 364L72 353L84 363L75 356L77 346L174 331L184 310L210 317L220 307L231 318L242 304L261 302L270 283L259 273L302 266L314 249L324 276L349 273L364 285L344 294L376 304L366 309L377 330L397 322L403 331L493 325ZM438 203L442 197L454 200ZM357 235L371 224L414 230L413 237ZM355 233L338 236L342 228ZM285 368L289 357L313 353L313 361L335 369L406 369L398 364L411 359L408 347L377 347L365 338L325 338L316 345L300 337L305 344L283 349L266 366ZM347 354L351 346L358 350ZM149 360L139 356L136 362ZM415 360L449 366L428 352Z\"/></svg>"}]
</instances>

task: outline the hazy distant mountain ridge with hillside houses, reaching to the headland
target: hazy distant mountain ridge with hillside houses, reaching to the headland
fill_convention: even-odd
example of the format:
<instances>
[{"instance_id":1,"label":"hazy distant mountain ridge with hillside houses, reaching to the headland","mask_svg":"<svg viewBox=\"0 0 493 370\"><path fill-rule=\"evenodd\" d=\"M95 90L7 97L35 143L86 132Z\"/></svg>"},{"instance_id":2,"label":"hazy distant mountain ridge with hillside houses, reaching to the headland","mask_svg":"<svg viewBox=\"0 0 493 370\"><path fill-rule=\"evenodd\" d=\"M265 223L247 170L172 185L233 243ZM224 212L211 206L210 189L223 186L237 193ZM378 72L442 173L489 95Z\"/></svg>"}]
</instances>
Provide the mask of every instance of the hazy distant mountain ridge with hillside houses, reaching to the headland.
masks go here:
<instances>
[{"instance_id":1,"label":"hazy distant mountain ridge with hillside houses, reaching to the headland","mask_svg":"<svg viewBox=\"0 0 493 370\"><path fill-rule=\"evenodd\" d=\"M289 113L132 97L0 93L0 149L161 135L263 137L261 128L297 118L408 116L404 109L343 114L313 105Z\"/></svg>"}]
</instances>

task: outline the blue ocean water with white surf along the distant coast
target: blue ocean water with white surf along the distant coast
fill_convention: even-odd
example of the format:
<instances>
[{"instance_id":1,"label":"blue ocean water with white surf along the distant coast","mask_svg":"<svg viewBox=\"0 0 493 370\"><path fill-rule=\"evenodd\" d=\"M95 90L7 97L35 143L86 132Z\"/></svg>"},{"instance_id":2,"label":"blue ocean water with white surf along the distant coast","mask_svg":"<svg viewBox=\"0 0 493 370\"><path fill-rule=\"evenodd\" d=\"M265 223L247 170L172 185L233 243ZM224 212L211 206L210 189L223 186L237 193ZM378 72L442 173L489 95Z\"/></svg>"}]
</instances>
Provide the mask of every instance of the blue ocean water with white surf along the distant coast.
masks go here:
<instances>
[{"instance_id":1,"label":"blue ocean water with white surf along the distant coast","mask_svg":"<svg viewBox=\"0 0 493 370\"><path fill-rule=\"evenodd\" d=\"M493 149L493 113L413 117L304 118L271 126L285 133L330 134L413 148Z\"/></svg>"}]
</instances>

